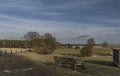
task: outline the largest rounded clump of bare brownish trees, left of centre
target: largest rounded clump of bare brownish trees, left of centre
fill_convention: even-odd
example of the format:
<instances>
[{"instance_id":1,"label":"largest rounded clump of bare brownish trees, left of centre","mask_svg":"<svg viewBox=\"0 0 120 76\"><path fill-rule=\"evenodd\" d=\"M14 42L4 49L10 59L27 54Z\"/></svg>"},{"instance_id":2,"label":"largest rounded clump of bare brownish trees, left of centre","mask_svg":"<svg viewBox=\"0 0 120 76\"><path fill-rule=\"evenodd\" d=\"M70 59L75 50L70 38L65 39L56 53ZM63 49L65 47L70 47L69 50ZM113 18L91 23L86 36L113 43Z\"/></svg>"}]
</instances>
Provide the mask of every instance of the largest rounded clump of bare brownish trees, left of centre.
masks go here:
<instances>
[{"instance_id":1,"label":"largest rounded clump of bare brownish trees, left of centre","mask_svg":"<svg viewBox=\"0 0 120 76\"><path fill-rule=\"evenodd\" d=\"M43 36L40 36L37 32L28 32L24 38L28 40L28 45L36 53L50 54L55 50L57 45L55 37L50 33L45 33Z\"/></svg>"}]
</instances>

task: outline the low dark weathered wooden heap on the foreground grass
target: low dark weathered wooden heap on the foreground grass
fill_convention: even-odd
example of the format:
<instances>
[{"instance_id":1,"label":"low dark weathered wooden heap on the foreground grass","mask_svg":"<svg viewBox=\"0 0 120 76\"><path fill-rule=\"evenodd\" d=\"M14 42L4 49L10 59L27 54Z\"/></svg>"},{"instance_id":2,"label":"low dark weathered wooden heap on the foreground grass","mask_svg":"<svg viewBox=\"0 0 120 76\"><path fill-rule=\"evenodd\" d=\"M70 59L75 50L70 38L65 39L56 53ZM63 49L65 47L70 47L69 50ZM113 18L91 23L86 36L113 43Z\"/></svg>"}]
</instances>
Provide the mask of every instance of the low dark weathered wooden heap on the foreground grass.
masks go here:
<instances>
[{"instance_id":1,"label":"low dark weathered wooden heap on the foreground grass","mask_svg":"<svg viewBox=\"0 0 120 76\"><path fill-rule=\"evenodd\" d=\"M81 58L71 56L54 56L54 60L55 63L61 67L70 68L77 71L86 69L86 66Z\"/></svg>"}]
</instances>

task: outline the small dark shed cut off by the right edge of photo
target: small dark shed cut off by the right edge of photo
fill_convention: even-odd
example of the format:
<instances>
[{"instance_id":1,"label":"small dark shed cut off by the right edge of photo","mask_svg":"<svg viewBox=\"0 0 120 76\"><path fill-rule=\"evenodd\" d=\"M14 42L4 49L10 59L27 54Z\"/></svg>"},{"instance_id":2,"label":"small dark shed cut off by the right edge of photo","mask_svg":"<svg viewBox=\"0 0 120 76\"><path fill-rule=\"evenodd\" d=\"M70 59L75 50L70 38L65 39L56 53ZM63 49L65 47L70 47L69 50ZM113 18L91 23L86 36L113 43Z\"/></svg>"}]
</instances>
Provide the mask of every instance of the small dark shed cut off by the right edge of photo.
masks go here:
<instances>
[{"instance_id":1,"label":"small dark shed cut off by the right edge of photo","mask_svg":"<svg viewBox=\"0 0 120 76\"><path fill-rule=\"evenodd\" d=\"M113 49L113 63L120 67L120 49Z\"/></svg>"}]
</instances>

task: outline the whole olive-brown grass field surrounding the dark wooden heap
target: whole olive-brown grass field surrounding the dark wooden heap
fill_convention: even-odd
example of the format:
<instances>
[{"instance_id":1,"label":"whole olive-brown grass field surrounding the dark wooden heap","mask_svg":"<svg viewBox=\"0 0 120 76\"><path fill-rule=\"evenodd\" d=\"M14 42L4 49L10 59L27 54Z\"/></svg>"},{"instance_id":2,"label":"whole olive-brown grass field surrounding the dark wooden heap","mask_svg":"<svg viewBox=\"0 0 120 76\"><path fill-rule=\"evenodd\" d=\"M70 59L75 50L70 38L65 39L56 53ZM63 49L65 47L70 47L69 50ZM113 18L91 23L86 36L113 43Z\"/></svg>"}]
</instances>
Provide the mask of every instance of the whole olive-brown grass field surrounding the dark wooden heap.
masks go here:
<instances>
[{"instance_id":1,"label":"whole olive-brown grass field surrounding the dark wooden heap","mask_svg":"<svg viewBox=\"0 0 120 76\"><path fill-rule=\"evenodd\" d=\"M1 56L0 76L120 76L120 68L112 64L112 56L104 55L109 52L105 48L95 47L93 49L94 56L84 58L87 70L83 72L55 67L54 65L53 56L79 55L80 50L76 49L57 49L50 55L27 52ZM32 68L32 70L22 71L23 68Z\"/></svg>"}]
</instances>

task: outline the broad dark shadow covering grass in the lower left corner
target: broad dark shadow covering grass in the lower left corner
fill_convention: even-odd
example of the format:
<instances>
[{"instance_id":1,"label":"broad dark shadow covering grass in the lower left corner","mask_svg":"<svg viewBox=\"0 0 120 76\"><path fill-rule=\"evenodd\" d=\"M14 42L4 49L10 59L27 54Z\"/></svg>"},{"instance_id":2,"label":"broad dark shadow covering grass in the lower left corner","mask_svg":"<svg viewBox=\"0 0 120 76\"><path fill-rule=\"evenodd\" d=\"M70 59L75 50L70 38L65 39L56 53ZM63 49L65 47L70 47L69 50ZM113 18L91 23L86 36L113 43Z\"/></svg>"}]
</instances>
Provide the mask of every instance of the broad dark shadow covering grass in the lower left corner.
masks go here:
<instances>
[{"instance_id":1,"label":"broad dark shadow covering grass in the lower left corner","mask_svg":"<svg viewBox=\"0 0 120 76\"><path fill-rule=\"evenodd\" d=\"M6 55L0 57L0 60L0 76L62 76L42 62L35 62L21 55ZM4 70L12 71L24 68L33 68L33 70L4 72Z\"/></svg>"}]
</instances>

